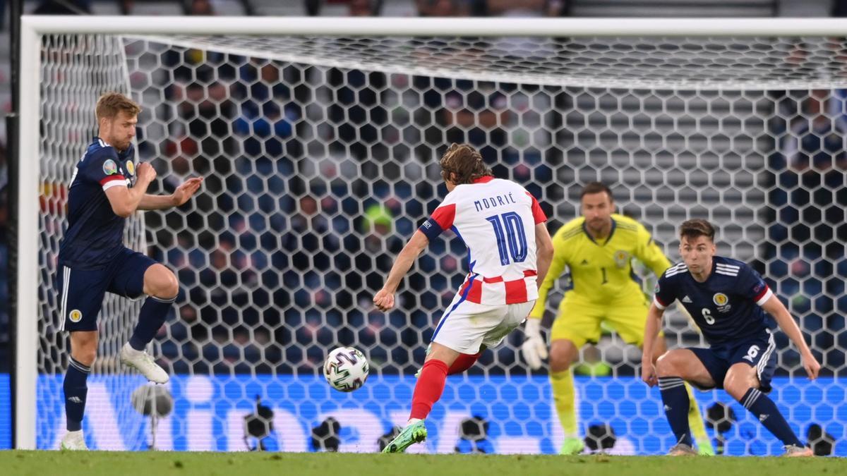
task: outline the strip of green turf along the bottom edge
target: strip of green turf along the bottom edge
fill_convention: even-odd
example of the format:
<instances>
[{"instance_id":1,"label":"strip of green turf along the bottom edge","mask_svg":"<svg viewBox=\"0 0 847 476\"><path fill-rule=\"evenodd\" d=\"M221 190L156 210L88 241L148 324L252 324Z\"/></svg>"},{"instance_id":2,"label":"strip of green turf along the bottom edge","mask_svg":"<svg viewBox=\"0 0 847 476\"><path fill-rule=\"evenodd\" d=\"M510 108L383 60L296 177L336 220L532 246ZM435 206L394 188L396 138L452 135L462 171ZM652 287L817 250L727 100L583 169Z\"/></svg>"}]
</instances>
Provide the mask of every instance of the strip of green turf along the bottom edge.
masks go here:
<instances>
[{"instance_id":1,"label":"strip of green turf along the bottom edge","mask_svg":"<svg viewBox=\"0 0 847 476\"><path fill-rule=\"evenodd\" d=\"M792 476L847 474L847 460L781 457L556 457L338 453L188 453L0 451L0 473L222 474L234 476L366 474L379 476Z\"/></svg>"}]
</instances>

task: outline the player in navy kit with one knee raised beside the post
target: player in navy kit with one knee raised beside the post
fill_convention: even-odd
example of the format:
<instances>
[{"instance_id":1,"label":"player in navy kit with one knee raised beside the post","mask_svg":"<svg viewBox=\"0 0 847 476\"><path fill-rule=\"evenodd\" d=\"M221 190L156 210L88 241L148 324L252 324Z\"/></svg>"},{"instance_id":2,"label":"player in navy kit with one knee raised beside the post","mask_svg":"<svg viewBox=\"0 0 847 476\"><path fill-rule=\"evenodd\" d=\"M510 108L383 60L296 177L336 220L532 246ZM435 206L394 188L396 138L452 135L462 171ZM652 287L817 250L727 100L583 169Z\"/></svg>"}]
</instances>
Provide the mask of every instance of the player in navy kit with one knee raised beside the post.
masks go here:
<instances>
[{"instance_id":1,"label":"player in navy kit with one knee raised beside the post","mask_svg":"<svg viewBox=\"0 0 847 476\"><path fill-rule=\"evenodd\" d=\"M120 351L120 360L152 382L168 374L144 350L173 307L179 285L168 268L124 246L124 224L136 210L179 207L200 188L201 178L186 180L169 196L149 195L156 179L149 163L136 164L132 138L141 108L117 92L97 101L99 136L77 163L68 191L68 230L59 246L60 329L70 333L70 357L64 377L68 433L61 447L85 450L82 418L86 379L97 357L97 315L107 292L137 298L147 295L136 329Z\"/></svg>"}]
</instances>

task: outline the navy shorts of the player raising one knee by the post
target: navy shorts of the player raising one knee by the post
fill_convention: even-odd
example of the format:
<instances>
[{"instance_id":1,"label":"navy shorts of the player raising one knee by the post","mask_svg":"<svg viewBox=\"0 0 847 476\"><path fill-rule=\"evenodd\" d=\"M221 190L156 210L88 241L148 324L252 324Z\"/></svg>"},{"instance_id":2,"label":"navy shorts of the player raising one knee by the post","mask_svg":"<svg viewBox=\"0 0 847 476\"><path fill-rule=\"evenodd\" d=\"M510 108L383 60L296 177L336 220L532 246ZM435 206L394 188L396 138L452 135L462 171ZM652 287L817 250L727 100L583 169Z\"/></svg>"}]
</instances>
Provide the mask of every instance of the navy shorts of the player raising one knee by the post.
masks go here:
<instances>
[{"instance_id":1,"label":"navy shorts of the player raising one knee by the post","mask_svg":"<svg viewBox=\"0 0 847 476\"><path fill-rule=\"evenodd\" d=\"M144 294L144 273L156 261L124 248L106 268L72 269L58 263L59 330L97 330L106 291L135 299Z\"/></svg>"}]
</instances>

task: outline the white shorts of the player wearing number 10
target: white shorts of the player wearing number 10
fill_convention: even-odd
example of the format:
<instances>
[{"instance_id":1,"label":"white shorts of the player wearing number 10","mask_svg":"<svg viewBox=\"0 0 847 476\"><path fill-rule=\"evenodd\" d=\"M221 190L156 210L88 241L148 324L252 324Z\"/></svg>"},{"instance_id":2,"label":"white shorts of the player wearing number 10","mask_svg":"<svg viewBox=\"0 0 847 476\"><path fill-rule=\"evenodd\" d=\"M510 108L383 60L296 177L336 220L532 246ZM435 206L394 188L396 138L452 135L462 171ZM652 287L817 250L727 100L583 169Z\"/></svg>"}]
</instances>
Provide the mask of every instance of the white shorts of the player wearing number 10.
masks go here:
<instances>
[{"instance_id":1,"label":"white shorts of the player wearing number 10","mask_svg":"<svg viewBox=\"0 0 847 476\"><path fill-rule=\"evenodd\" d=\"M529 316L534 304L535 300L490 306L457 295L435 328L432 341L462 354L475 354L480 346L499 346Z\"/></svg>"}]
</instances>

